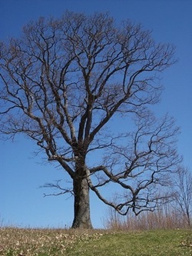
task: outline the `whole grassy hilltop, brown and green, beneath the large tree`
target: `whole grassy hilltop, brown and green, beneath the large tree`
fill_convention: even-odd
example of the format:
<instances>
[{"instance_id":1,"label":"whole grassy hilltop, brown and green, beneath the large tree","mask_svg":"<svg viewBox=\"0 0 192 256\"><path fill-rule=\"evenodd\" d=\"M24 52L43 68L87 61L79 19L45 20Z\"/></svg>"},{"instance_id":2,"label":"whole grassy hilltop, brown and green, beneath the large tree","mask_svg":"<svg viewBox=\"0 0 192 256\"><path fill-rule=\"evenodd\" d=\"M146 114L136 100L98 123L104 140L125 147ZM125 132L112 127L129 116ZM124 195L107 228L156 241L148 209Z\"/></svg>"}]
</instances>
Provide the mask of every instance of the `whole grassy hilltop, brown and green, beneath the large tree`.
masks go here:
<instances>
[{"instance_id":1,"label":"whole grassy hilltop, brown and green, beneath the large tree","mask_svg":"<svg viewBox=\"0 0 192 256\"><path fill-rule=\"evenodd\" d=\"M5 256L192 255L192 231L107 231L0 228Z\"/></svg>"}]
</instances>

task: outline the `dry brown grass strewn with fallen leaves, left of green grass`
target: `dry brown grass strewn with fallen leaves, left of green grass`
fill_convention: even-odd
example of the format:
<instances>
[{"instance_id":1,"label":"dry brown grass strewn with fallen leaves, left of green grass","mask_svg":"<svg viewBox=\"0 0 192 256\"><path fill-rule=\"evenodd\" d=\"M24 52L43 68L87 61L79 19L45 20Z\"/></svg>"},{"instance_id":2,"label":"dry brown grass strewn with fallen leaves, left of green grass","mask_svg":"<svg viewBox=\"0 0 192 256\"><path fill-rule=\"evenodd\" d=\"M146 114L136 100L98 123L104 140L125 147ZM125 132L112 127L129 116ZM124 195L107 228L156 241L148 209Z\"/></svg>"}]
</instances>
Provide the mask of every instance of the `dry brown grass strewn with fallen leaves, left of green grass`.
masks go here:
<instances>
[{"instance_id":1,"label":"dry brown grass strewn with fallen leaves, left of green grass","mask_svg":"<svg viewBox=\"0 0 192 256\"><path fill-rule=\"evenodd\" d=\"M0 228L0 255L65 255L75 242L96 240L100 236L97 231Z\"/></svg>"}]
</instances>

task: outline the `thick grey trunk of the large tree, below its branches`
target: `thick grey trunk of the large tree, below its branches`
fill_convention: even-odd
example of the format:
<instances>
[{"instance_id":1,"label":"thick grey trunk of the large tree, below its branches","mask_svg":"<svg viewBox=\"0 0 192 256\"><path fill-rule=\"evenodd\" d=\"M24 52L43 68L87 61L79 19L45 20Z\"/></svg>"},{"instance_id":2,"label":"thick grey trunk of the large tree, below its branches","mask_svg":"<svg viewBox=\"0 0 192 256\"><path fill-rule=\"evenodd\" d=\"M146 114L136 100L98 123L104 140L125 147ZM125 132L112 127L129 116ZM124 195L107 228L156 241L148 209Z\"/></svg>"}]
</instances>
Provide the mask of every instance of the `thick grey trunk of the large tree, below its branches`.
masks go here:
<instances>
[{"instance_id":1,"label":"thick grey trunk of the large tree, below its branches","mask_svg":"<svg viewBox=\"0 0 192 256\"><path fill-rule=\"evenodd\" d=\"M81 175L74 178L74 221L72 228L92 228L88 181Z\"/></svg>"}]
</instances>

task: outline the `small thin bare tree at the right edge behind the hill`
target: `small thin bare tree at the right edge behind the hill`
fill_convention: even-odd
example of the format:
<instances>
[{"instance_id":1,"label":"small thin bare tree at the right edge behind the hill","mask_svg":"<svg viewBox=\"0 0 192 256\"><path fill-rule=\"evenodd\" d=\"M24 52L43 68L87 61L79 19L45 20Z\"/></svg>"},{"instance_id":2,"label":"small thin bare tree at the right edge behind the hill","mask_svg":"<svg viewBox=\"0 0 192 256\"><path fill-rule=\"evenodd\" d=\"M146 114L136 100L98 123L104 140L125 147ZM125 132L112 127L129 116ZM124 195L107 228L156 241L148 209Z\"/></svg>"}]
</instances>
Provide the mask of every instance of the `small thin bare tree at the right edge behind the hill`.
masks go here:
<instances>
[{"instance_id":1,"label":"small thin bare tree at the right edge behind the hill","mask_svg":"<svg viewBox=\"0 0 192 256\"><path fill-rule=\"evenodd\" d=\"M174 177L174 208L183 214L190 227L192 212L192 175L189 169L179 167Z\"/></svg>"}]
</instances>

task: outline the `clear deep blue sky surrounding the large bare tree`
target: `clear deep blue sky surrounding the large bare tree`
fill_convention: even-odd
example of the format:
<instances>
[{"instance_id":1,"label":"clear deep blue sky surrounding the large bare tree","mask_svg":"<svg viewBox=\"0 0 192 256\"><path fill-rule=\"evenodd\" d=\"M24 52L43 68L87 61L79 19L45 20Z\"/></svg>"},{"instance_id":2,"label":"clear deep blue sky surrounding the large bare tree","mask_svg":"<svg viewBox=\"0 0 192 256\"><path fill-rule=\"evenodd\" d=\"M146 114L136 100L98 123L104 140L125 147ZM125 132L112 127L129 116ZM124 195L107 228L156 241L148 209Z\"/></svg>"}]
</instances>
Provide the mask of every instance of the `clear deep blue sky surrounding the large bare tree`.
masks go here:
<instances>
[{"instance_id":1,"label":"clear deep blue sky surrounding the large bare tree","mask_svg":"<svg viewBox=\"0 0 192 256\"><path fill-rule=\"evenodd\" d=\"M157 115L169 112L180 126L178 151L192 170L192 1L191 0L0 0L0 40L17 37L22 26L39 16L59 17L65 10L110 12L118 21L130 18L153 30L157 42L173 43L179 62L164 72L165 91ZM70 226L72 198L44 198L39 186L65 177L65 172L34 156L35 143L22 135L0 141L0 226ZM112 191L111 191L112 193ZM91 195L91 218L101 228L106 207Z\"/></svg>"}]
</instances>

